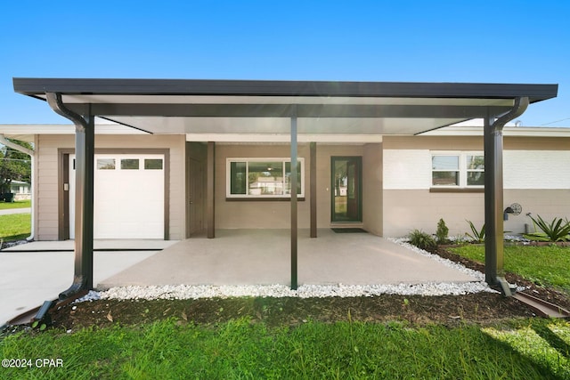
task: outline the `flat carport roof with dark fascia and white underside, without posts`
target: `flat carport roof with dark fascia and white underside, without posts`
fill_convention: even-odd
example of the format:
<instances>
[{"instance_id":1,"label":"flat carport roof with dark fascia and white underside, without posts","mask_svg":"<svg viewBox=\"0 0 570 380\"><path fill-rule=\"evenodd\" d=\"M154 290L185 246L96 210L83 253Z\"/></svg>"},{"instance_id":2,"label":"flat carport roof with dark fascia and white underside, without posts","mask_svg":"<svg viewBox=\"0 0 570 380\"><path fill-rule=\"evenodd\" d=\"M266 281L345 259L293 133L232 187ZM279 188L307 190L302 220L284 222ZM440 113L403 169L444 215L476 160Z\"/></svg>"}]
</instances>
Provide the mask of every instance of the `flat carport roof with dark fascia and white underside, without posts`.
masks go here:
<instances>
[{"instance_id":1,"label":"flat carport roof with dark fascia and white underside, without posts","mask_svg":"<svg viewBox=\"0 0 570 380\"><path fill-rule=\"evenodd\" d=\"M297 117L299 133L418 134L500 116L518 97L536 102L558 93L558 85L406 82L14 78L13 85L17 93L43 100L46 93L60 93L77 114L151 133L193 133L213 118L221 125L212 132L243 133L250 128L226 125ZM343 119L352 121L342 128Z\"/></svg>"}]
</instances>

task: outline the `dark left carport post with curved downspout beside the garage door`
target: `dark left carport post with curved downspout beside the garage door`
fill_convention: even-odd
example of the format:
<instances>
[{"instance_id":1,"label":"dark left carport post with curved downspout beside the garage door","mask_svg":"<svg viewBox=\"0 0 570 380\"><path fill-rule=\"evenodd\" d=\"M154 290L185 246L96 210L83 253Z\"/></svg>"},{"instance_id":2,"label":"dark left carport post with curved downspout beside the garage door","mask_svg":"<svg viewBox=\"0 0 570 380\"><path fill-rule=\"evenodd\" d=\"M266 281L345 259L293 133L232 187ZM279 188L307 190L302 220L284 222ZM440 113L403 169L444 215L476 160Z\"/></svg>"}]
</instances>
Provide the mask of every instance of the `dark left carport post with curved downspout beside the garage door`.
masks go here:
<instances>
[{"instance_id":1,"label":"dark left carport post with curved downspout beside the garage door","mask_svg":"<svg viewBox=\"0 0 570 380\"><path fill-rule=\"evenodd\" d=\"M76 198L75 198L75 264L71 286L61 292L60 299L82 290L93 289L94 230L94 115L87 109L85 117L65 107L61 93L46 93L54 112L68 118L76 126Z\"/></svg>"}]
</instances>

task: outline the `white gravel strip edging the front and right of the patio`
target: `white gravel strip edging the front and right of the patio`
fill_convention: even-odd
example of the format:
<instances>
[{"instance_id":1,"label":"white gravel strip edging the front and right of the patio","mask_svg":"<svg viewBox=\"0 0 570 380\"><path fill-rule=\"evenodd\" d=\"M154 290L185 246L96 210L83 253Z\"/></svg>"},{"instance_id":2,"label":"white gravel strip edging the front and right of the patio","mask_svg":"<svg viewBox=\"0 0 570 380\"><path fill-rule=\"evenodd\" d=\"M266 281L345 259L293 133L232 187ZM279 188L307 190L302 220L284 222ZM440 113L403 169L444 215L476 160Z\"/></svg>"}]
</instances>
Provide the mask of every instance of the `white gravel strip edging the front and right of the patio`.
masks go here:
<instances>
[{"instance_id":1,"label":"white gravel strip edging the front and right of the patio","mask_svg":"<svg viewBox=\"0 0 570 380\"><path fill-rule=\"evenodd\" d=\"M423 249L408 244L405 239L389 239L397 244L411 249L419 255L425 255L466 273L477 279L475 282L462 283L423 283L423 284L395 284L395 285L301 285L292 290L285 285L243 285L243 286L213 286L213 285L167 285L150 287L111 287L109 290L97 292L90 291L88 295L77 299L76 302L93 301L99 299L199 299L199 298L229 298L229 297L354 297L374 295L467 295L471 293L489 292L498 293L485 283L485 275L479 271L470 270L463 265L453 263L438 255L432 255Z\"/></svg>"}]
</instances>

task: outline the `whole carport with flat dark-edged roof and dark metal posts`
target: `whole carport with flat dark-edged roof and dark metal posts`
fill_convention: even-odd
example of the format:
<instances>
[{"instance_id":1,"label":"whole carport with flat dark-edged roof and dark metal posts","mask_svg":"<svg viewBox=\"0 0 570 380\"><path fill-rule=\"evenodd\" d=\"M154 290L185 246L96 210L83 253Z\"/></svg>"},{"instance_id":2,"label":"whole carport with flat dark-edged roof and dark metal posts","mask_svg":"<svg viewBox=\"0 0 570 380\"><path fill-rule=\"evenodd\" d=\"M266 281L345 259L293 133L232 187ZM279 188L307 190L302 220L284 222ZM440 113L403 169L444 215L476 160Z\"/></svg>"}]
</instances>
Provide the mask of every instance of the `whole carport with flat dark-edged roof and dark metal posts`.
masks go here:
<instances>
[{"instance_id":1,"label":"whole carport with flat dark-edged roof and dark metal posts","mask_svg":"<svg viewBox=\"0 0 570 380\"><path fill-rule=\"evenodd\" d=\"M93 287L94 117L148 133L286 133L291 173L297 141L322 134L413 135L485 120L485 280L509 295L502 273L502 128L558 85L14 78L14 90L47 101L76 125L75 279L61 294ZM314 140L312 140L314 138ZM214 154L208 142L208 238L215 238ZM316 151L311 143L311 155ZM311 176L314 171L311 171ZM314 192L311 181L311 194ZM291 189L297 177L291 176ZM316 198L311 197L316 237ZM290 286L297 288L297 194L290 197Z\"/></svg>"}]
</instances>

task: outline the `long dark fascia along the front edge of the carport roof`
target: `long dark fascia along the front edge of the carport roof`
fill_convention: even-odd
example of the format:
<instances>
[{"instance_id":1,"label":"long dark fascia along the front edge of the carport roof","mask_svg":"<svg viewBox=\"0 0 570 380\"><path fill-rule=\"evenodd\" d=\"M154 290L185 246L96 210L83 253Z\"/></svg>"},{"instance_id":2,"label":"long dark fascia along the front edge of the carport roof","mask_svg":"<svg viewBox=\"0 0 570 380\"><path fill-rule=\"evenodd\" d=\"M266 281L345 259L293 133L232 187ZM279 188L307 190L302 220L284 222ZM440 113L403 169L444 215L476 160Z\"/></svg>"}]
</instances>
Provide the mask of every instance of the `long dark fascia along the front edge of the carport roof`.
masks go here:
<instances>
[{"instance_id":1,"label":"long dark fascia along the front edge of the carport roof","mask_svg":"<svg viewBox=\"0 0 570 380\"><path fill-rule=\"evenodd\" d=\"M558 85L551 84L33 77L14 77L12 82L15 92L28 95L53 92L480 99L514 99L524 95L534 102L554 98L558 93Z\"/></svg>"}]
</instances>

